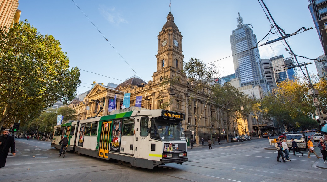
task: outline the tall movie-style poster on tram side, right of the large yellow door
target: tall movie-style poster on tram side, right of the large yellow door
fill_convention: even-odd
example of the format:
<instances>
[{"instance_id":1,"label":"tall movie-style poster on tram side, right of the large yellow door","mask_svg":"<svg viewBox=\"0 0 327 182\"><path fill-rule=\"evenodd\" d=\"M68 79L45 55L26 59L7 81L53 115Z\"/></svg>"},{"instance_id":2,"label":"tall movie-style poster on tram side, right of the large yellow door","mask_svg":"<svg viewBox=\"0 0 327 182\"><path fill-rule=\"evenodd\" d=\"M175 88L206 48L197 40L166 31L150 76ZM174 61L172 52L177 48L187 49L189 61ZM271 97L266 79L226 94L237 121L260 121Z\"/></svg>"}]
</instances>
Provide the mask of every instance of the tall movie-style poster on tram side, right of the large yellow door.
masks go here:
<instances>
[{"instance_id":1,"label":"tall movie-style poster on tram side, right of the large yellow door","mask_svg":"<svg viewBox=\"0 0 327 182\"><path fill-rule=\"evenodd\" d=\"M116 119L112 122L112 139L110 144L110 150L120 152L120 139L122 134L122 119Z\"/></svg>"}]
</instances>

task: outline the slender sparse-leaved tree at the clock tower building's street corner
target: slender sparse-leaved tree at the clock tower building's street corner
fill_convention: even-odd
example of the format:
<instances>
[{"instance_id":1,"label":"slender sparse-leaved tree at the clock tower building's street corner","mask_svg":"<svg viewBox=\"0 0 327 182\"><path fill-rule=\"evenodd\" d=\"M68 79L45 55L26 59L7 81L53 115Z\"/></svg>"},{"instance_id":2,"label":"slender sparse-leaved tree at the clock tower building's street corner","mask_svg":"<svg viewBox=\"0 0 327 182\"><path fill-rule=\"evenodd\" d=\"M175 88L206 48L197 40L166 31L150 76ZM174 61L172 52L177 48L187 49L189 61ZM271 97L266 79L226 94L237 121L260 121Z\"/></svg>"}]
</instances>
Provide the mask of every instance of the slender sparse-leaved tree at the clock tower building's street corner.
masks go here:
<instances>
[{"instance_id":1,"label":"slender sparse-leaved tree at the clock tower building's street corner","mask_svg":"<svg viewBox=\"0 0 327 182\"><path fill-rule=\"evenodd\" d=\"M202 60L197 58L190 58L188 62L183 63L183 71L187 76L187 79L193 86L192 88L192 99L195 101L195 132L196 142L199 144L199 122L203 118L202 115L209 103L209 100L213 96L212 87L210 85L211 78L215 78L217 70L214 65L207 66ZM206 90L206 91L205 91ZM204 104L204 108L199 109L200 103Z\"/></svg>"}]
</instances>

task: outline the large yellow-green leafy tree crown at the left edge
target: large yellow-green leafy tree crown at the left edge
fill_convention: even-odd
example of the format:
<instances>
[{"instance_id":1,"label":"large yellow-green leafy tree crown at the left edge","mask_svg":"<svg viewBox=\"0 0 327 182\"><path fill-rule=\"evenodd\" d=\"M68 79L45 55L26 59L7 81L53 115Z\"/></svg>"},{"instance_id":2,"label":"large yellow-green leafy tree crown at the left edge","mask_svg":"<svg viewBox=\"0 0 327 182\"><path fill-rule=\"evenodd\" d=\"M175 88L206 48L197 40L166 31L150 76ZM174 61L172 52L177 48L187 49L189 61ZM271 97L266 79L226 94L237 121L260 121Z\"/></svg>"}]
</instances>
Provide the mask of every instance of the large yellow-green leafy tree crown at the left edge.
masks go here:
<instances>
[{"instance_id":1,"label":"large yellow-green leafy tree crown at the left edge","mask_svg":"<svg viewBox=\"0 0 327 182\"><path fill-rule=\"evenodd\" d=\"M0 126L9 126L15 117L32 120L58 99L72 100L81 83L60 42L29 23L0 31L0 64Z\"/></svg>"}]
</instances>

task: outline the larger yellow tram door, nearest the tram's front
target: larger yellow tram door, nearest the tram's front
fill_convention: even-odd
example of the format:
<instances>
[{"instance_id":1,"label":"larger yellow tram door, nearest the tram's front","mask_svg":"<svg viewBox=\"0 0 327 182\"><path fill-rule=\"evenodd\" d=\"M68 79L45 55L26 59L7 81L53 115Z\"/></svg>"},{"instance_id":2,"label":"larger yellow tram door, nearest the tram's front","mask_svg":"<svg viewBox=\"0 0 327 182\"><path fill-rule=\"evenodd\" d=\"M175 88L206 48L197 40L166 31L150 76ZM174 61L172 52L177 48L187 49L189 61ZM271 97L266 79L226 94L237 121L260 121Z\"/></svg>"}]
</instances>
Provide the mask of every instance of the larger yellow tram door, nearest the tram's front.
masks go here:
<instances>
[{"instance_id":1,"label":"larger yellow tram door, nearest the tram's front","mask_svg":"<svg viewBox=\"0 0 327 182\"><path fill-rule=\"evenodd\" d=\"M101 127L99 157L108 158L110 148L110 129L112 121L103 122Z\"/></svg>"}]
</instances>

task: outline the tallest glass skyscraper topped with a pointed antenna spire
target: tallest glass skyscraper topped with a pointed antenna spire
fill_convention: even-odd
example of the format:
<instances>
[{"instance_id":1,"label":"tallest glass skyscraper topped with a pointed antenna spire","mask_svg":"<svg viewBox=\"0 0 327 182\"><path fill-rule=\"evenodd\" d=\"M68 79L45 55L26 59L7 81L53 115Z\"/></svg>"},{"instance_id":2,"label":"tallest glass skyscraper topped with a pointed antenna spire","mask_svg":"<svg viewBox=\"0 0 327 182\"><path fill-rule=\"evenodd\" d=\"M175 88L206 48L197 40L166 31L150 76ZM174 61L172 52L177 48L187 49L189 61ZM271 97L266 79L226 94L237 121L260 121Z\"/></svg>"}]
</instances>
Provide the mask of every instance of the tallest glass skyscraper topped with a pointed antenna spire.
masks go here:
<instances>
[{"instance_id":1,"label":"tallest glass skyscraper topped with a pointed antenna spire","mask_svg":"<svg viewBox=\"0 0 327 182\"><path fill-rule=\"evenodd\" d=\"M237 23L237 28L230 36L235 77L241 79L241 86L260 85L264 92L270 92L259 49L256 48L257 38L249 25L243 24L240 13L238 13Z\"/></svg>"}]
</instances>

